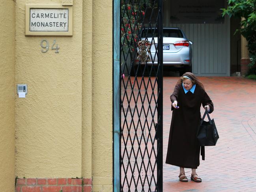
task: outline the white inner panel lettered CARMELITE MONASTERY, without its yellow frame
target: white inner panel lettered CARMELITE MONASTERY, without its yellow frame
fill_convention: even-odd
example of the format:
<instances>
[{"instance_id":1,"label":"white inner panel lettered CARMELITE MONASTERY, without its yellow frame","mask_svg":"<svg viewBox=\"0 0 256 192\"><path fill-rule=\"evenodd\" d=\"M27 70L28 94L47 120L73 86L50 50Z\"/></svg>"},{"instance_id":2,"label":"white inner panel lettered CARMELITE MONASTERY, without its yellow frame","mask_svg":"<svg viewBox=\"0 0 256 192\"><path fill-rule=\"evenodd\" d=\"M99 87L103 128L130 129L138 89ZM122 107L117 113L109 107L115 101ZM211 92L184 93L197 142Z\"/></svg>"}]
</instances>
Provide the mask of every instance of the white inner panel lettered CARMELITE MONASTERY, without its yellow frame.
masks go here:
<instances>
[{"instance_id":1,"label":"white inner panel lettered CARMELITE MONASTERY, without its yellow frame","mask_svg":"<svg viewBox=\"0 0 256 192\"><path fill-rule=\"evenodd\" d=\"M30 9L30 32L68 32L69 9Z\"/></svg>"}]
</instances>

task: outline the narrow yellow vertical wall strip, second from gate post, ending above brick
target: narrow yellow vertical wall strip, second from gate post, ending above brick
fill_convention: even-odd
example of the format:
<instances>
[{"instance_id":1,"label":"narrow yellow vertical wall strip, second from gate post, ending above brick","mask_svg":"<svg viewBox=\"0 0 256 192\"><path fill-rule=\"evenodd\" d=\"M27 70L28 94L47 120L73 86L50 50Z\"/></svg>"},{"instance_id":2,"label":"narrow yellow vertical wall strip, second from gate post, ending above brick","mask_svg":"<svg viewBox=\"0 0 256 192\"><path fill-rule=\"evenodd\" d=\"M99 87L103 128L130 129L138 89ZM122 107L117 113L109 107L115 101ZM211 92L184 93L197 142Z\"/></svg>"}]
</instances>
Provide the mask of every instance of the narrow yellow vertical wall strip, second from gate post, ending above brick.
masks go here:
<instances>
[{"instance_id":1,"label":"narrow yellow vertical wall strip, second from gate post, ending above brick","mask_svg":"<svg viewBox=\"0 0 256 192\"><path fill-rule=\"evenodd\" d=\"M82 177L92 178L92 1L83 0Z\"/></svg>"}]
</instances>

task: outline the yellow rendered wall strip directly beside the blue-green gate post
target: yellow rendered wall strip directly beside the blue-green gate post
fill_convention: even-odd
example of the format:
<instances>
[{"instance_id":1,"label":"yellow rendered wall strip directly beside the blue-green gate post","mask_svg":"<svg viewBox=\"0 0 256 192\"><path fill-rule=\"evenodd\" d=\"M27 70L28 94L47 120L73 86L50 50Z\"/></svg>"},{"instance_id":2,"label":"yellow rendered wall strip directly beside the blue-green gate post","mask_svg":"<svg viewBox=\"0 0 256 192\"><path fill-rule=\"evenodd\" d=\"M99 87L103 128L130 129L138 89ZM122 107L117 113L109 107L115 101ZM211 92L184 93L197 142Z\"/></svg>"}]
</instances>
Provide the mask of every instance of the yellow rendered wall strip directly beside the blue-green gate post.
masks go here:
<instances>
[{"instance_id":1,"label":"yellow rendered wall strip directly beside the blue-green gate post","mask_svg":"<svg viewBox=\"0 0 256 192\"><path fill-rule=\"evenodd\" d=\"M112 191L112 0L93 0L93 192Z\"/></svg>"}]
</instances>

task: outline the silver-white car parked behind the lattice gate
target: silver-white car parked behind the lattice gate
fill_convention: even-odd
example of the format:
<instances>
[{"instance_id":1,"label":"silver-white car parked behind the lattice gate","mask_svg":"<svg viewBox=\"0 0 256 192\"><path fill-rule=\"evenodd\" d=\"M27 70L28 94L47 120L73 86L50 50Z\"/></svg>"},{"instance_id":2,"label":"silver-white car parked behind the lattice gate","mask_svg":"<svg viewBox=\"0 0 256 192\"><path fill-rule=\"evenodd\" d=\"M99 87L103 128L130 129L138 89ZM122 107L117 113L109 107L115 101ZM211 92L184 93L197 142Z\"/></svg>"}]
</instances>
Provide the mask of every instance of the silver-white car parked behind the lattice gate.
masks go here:
<instances>
[{"instance_id":1,"label":"silver-white car parked behind the lattice gate","mask_svg":"<svg viewBox=\"0 0 256 192\"><path fill-rule=\"evenodd\" d=\"M155 34L152 37L152 34ZM135 58L135 71L139 65L157 65L157 31L153 29L144 29L141 32L141 39L147 40L148 50L147 54L149 59L147 62L140 58L141 50L138 46L137 55ZM179 75L185 72L192 72L192 41L189 41L185 33L179 28L163 28L163 67L164 71L172 70L179 71ZM150 47L151 46L151 47Z\"/></svg>"}]
</instances>

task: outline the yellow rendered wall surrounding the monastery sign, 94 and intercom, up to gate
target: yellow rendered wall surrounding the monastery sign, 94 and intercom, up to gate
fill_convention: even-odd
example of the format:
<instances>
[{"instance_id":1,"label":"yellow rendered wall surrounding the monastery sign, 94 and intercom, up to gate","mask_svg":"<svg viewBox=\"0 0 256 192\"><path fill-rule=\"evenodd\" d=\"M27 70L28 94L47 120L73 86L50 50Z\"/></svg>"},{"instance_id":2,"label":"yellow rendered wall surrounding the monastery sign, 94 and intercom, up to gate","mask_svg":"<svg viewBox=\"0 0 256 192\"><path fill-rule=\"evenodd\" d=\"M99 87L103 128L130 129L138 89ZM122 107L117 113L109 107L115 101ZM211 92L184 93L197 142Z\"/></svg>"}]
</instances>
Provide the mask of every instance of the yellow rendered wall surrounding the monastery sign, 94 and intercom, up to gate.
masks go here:
<instances>
[{"instance_id":1,"label":"yellow rendered wall surrounding the monastery sign, 94 and intercom, up to gate","mask_svg":"<svg viewBox=\"0 0 256 192\"><path fill-rule=\"evenodd\" d=\"M84 177L93 192L112 191L112 1L73 1L73 37L25 36L25 4L16 7L18 177ZM56 39L60 53L41 52Z\"/></svg>"}]
</instances>

